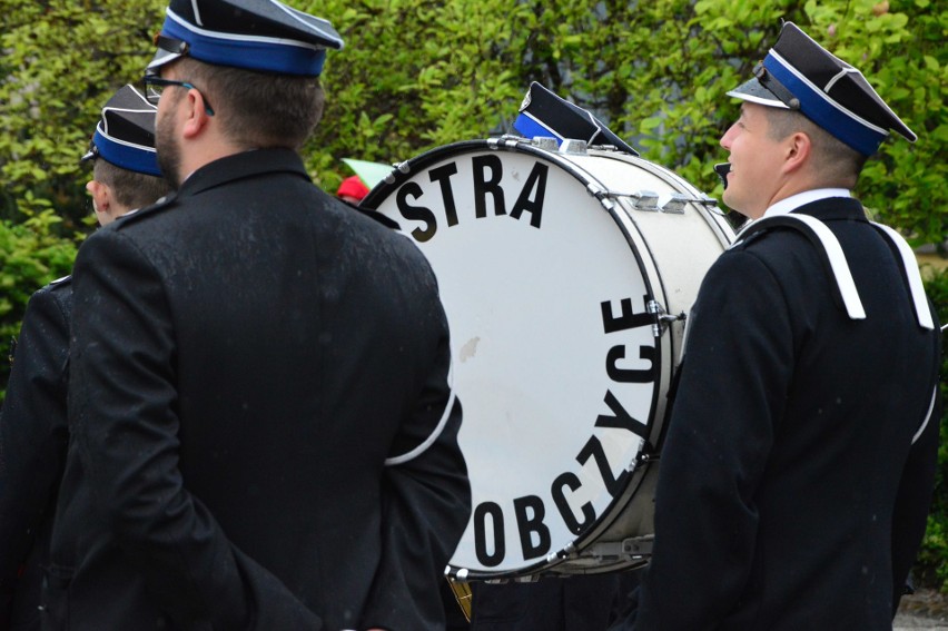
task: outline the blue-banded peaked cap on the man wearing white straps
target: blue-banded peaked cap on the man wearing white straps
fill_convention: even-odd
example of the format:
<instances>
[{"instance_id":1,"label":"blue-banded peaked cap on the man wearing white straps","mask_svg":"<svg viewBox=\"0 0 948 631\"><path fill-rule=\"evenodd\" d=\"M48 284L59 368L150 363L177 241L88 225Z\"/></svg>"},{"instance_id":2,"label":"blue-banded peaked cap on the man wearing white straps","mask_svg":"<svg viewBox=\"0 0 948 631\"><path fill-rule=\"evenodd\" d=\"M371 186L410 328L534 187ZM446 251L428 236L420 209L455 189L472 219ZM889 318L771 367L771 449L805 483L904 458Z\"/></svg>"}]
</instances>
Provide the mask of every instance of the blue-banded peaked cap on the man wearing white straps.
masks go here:
<instances>
[{"instance_id":1,"label":"blue-banded peaked cap on the man wearing white straps","mask_svg":"<svg viewBox=\"0 0 948 631\"><path fill-rule=\"evenodd\" d=\"M876 93L862 73L784 22L777 43L754 68L754 78L728 96L799 110L833 137L871 156L889 130L918 137Z\"/></svg>"}]
</instances>

